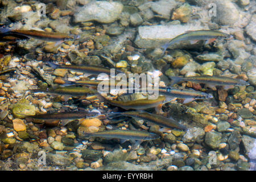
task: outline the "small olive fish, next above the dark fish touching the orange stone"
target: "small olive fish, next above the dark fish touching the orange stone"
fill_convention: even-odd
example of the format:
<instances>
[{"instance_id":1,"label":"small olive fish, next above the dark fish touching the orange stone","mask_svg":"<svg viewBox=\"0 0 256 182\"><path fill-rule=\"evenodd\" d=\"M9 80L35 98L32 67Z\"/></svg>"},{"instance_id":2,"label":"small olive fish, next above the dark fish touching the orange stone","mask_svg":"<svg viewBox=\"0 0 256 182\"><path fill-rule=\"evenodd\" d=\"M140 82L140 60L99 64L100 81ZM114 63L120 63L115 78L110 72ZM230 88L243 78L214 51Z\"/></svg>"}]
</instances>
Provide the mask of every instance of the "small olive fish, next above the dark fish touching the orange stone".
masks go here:
<instances>
[{"instance_id":1,"label":"small olive fish, next above the dark fish touching the orange stone","mask_svg":"<svg viewBox=\"0 0 256 182\"><path fill-rule=\"evenodd\" d=\"M59 87L56 89L30 89L28 90L32 93L38 93L38 92L45 92L45 93L52 93L52 94L60 94L64 96L85 96L87 94L94 94L97 92L97 90L90 89L87 87L75 87L75 86L69 86L69 87Z\"/></svg>"}]
</instances>

